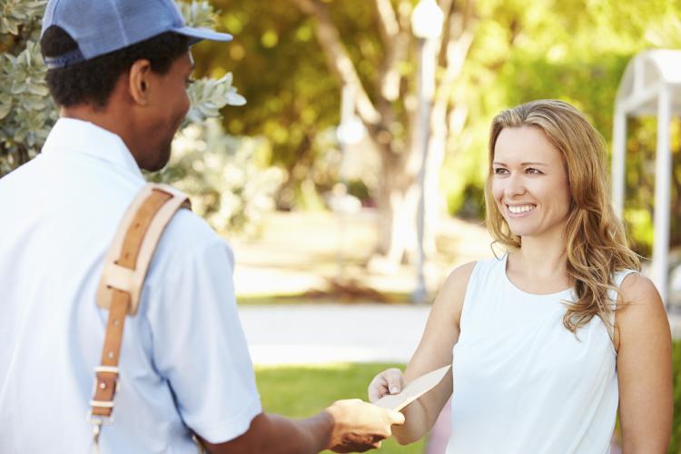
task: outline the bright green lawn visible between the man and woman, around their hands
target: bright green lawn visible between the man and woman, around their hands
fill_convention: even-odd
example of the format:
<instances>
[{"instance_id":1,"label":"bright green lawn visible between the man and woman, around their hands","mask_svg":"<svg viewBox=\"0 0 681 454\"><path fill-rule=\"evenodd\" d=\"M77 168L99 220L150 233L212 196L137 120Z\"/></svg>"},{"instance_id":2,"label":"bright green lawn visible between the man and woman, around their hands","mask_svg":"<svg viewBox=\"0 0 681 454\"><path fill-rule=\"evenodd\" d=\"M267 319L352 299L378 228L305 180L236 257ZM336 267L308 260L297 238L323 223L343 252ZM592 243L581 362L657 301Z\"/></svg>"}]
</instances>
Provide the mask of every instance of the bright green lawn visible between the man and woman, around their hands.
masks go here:
<instances>
[{"instance_id":1,"label":"bright green lawn visible between the man and woman, around their hands","mask_svg":"<svg viewBox=\"0 0 681 454\"><path fill-rule=\"evenodd\" d=\"M334 400L367 399L367 385L380 370L403 368L402 364L326 364L304 366L256 366L255 376L262 407L290 418L306 418ZM393 439L383 442L381 454L422 454L425 443L400 446ZM331 451L324 451L331 453Z\"/></svg>"}]
</instances>

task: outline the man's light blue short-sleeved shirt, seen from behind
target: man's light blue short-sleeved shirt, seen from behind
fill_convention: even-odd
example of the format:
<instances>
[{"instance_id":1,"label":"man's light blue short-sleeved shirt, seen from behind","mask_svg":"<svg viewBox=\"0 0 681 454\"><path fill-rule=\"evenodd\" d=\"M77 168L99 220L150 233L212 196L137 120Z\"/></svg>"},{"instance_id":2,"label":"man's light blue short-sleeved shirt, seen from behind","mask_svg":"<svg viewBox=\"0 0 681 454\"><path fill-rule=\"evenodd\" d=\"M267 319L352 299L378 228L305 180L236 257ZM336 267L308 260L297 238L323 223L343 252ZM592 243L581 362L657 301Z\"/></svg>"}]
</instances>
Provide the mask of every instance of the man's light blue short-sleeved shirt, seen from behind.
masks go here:
<instances>
[{"instance_id":1,"label":"man's light blue short-sleeved shirt, seen from behind","mask_svg":"<svg viewBox=\"0 0 681 454\"><path fill-rule=\"evenodd\" d=\"M144 184L120 137L60 119L43 153L0 179L0 452L89 452L86 419L108 311L104 253ZM106 453L194 453L262 411L232 283L232 250L182 210L123 332ZM191 428L191 430L190 430Z\"/></svg>"}]
</instances>

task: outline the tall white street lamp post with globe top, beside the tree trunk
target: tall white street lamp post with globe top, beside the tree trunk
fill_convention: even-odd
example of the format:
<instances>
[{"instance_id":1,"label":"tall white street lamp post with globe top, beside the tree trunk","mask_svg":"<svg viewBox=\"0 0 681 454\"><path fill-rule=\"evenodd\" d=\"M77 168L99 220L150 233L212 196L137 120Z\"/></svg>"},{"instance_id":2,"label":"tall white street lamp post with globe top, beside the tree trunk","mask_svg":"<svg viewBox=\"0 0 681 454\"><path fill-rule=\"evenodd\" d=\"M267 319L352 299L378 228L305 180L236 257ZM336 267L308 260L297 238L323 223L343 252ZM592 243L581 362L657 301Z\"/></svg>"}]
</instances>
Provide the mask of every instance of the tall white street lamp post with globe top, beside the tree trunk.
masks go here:
<instances>
[{"instance_id":1,"label":"tall white street lamp post with globe top, beside the tree trunk","mask_svg":"<svg viewBox=\"0 0 681 454\"><path fill-rule=\"evenodd\" d=\"M411 31L419 38L419 125L420 153L419 167L419 209L417 212L417 285L411 294L411 301L425 302L428 297L426 289L426 253L423 246L425 234L425 180L428 146L430 139L430 109L435 94L435 54L437 39L442 33L444 14L435 0L419 0L411 14Z\"/></svg>"}]
</instances>

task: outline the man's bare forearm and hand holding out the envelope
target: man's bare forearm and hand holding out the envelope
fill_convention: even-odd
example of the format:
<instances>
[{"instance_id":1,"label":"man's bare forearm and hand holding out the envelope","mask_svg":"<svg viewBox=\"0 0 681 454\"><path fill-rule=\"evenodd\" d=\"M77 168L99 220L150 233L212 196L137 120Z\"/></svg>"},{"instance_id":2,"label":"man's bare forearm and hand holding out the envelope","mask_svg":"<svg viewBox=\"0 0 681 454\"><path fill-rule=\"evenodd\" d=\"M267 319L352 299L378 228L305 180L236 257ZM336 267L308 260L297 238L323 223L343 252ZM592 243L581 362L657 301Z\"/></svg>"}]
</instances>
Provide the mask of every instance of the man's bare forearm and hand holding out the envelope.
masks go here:
<instances>
[{"instance_id":1,"label":"man's bare forearm and hand holding out the envelope","mask_svg":"<svg viewBox=\"0 0 681 454\"><path fill-rule=\"evenodd\" d=\"M390 426L403 422L400 412L361 400L339 400L308 419L261 413L242 436L224 443L202 443L211 454L364 452L380 448L380 440L390 437Z\"/></svg>"}]
</instances>

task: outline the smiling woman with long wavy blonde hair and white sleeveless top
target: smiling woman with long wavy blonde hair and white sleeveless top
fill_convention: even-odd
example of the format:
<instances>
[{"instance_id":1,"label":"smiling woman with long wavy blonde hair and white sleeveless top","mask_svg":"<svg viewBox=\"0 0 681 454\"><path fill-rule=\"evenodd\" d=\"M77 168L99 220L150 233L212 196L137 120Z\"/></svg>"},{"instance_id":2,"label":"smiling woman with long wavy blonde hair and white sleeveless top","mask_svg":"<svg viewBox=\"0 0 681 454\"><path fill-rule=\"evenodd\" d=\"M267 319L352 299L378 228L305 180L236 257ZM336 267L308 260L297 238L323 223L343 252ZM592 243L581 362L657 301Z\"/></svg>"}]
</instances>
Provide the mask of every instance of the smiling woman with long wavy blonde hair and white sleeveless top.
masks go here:
<instances>
[{"instance_id":1,"label":"smiling woman with long wavy blonde hair and white sleeveless top","mask_svg":"<svg viewBox=\"0 0 681 454\"><path fill-rule=\"evenodd\" d=\"M485 201L506 252L452 271L407 370L371 381L375 401L453 365L402 410L400 443L423 437L453 390L448 454L605 454L617 408L625 454L666 453L669 324L608 197L605 143L577 109L498 114Z\"/></svg>"}]
</instances>

